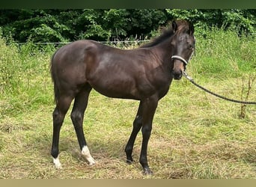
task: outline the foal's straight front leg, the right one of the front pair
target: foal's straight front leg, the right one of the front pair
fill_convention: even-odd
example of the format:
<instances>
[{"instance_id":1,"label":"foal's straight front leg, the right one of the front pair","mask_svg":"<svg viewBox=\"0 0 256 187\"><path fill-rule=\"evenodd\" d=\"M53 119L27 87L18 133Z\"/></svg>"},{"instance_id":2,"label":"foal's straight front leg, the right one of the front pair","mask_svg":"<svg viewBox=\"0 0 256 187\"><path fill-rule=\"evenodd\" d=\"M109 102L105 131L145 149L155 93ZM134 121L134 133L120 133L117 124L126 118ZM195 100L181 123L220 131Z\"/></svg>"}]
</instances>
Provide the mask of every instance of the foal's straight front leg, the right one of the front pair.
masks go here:
<instances>
[{"instance_id":1,"label":"foal's straight front leg, the right one of the front pair","mask_svg":"<svg viewBox=\"0 0 256 187\"><path fill-rule=\"evenodd\" d=\"M142 102L142 144L139 162L144 170L144 174L153 174L147 163L147 144L151 135L153 116L156 111L158 97L151 96Z\"/></svg>"}]
</instances>

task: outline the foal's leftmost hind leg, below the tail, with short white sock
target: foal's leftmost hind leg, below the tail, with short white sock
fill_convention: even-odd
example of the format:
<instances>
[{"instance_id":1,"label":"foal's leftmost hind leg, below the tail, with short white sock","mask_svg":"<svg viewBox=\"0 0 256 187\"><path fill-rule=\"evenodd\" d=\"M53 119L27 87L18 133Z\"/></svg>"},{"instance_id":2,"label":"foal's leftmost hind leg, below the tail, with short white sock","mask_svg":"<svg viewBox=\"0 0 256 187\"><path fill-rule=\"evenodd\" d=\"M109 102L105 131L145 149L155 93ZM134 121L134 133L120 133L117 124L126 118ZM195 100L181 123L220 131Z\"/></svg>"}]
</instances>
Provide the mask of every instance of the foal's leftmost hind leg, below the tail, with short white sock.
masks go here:
<instances>
[{"instance_id":1,"label":"foal's leftmost hind leg, below the tail, with short white sock","mask_svg":"<svg viewBox=\"0 0 256 187\"><path fill-rule=\"evenodd\" d=\"M58 103L55 107L55 110L52 113L53 117L53 135L52 135L52 157L53 163L56 168L61 168L61 163L58 159L58 142L60 137L60 130L64 120L65 115L67 114L68 108L70 108L70 103L73 100L71 96L60 96Z\"/></svg>"}]
</instances>

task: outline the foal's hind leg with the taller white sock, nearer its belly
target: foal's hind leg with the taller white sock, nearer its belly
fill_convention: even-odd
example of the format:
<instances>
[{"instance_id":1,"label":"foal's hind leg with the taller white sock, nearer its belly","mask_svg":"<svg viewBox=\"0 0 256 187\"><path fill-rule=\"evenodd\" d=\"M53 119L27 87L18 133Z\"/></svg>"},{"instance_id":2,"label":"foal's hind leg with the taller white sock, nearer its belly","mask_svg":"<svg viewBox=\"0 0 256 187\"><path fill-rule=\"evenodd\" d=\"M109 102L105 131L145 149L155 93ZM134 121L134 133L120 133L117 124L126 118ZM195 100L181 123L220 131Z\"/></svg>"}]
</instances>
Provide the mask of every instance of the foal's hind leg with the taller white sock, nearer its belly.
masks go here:
<instances>
[{"instance_id":1,"label":"foal's hind leg with the taller white sock, nearer its belly","mask_svg":"<svg viewBox=\"0 0 256 187\"><path fill-rule=\"evenodd\" d=\"M88 104L88 96L91 92L91 86L86 85L82 90L76 95L75 102L73 105L73 110L71 112L71 119L76 130L76 136L79 141L79 146L81 149L82 156L88 161L89 165L94 165L95 161L91 157L90 151L85 141L85 135L83 131L83 119L85 114L85 109Z\"/></svg>"}]
</instances>

